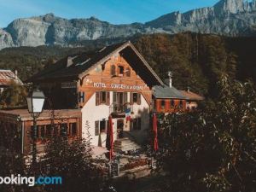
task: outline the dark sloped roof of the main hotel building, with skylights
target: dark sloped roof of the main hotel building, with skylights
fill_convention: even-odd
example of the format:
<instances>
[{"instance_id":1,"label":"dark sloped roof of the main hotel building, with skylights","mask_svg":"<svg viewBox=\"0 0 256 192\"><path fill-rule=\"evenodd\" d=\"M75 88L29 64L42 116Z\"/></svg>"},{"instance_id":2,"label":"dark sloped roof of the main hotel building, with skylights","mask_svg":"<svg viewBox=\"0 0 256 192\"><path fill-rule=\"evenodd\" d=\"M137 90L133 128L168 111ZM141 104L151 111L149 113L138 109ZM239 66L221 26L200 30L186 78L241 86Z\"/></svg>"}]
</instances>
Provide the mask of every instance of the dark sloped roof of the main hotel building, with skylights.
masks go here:
<instances>
[{"instance_id":1,"label":"dark sloped roof of the main hotel building, with skylights","mask_svg":"<svg viewBox=\"0 0 256 192\"><path fill-rule=\"evenodd\" d=\"M42 72L32 76L27 82L40 82L49 79L81 79L90 71L90 69L96 67L98 64L105 63L117 52L122 52L122 55L128 60L140 60L140 62L136 62L134 65L143 64L145 67L145 78L151 78L154 80L154 84L163 84L157 74L154 73L153 69L149 67L148 62L138 53L137 49L130 41L104 47L90 55L81 54L67 56L60 61L57 61L52 66L45 68ZM131 55L131 52L133 55ZM68 60L72 61L72 65L68 65ZM135 70L136 68L137 67L135 66ZM148 75L149 77L147 77Z\"/></svg>"}]
</instances>

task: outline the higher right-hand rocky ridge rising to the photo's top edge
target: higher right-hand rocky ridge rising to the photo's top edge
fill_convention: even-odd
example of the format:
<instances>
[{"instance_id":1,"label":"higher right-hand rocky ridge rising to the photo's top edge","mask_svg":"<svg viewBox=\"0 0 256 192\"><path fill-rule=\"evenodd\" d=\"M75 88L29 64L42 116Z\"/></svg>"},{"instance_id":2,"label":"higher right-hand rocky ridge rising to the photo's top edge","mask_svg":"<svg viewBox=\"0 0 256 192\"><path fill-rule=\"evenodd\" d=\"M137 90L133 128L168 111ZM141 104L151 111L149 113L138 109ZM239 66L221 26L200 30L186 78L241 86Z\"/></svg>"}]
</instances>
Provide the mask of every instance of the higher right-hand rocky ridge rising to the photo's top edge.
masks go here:
<instances>
[{"instance_id":1,"label":"higher right-hand rocky ridge rising to the photo's top edge","mask_svg":"<svg viewBox=\"0 0 256 192\"><path fill-rule=\"evenodd\" d=\"M161 27L168 33L201 32L225 36L247 36L247 30L256 23L256 0L221 0L213 7L194 9L184 14L163 15L146 23Z\"/></svg>"}]
</instances>

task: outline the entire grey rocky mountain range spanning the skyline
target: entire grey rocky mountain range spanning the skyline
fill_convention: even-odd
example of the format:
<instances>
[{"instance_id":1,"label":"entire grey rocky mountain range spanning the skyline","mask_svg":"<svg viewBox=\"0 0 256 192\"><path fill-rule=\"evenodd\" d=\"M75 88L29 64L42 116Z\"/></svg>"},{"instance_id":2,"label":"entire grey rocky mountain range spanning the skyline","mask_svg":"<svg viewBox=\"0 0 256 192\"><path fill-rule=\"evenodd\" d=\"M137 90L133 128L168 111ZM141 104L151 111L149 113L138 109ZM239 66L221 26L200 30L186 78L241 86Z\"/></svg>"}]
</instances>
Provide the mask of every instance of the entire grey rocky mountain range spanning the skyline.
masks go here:
<instances>
[{"instance_id":1,"label":"entire grey rocky mountain range spanning the skyline","mask_svg":"<svg viewBox=\"0 0 256 192\"><path fill-rule=\"evenodd\" d=\"M0 29L0 49L14 46L79 44L95 39L124 39L135 34L165 32L256 35L256 0L221 0L209 8L173 12L144 24L113 25L95 17L67 20L53 14L14 20Z\"/></svg>"}]
</instances>

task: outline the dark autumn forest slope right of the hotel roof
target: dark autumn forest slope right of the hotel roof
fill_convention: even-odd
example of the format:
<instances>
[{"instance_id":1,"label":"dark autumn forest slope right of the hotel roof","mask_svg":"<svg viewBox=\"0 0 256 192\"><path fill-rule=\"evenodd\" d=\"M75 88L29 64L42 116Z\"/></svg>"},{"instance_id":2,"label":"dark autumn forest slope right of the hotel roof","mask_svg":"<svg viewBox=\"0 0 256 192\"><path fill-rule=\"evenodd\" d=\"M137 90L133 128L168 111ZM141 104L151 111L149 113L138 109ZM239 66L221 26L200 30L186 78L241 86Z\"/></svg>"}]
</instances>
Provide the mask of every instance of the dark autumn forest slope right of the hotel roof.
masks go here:
<instances>
[{"instance_id":1,"label":"dark autumn forest slope right of the hotel roof","mask_svg":"<svg viewBox=\"0 0 256 192\"><path fill-rule=\"evenodd\" d=\"M216 35L180 33L138 38L137 49L162 79L174 73L179 89L214 95L222 73L230 78L256 80L256 38L225 38Z\"/></svg>"}]
</instances>

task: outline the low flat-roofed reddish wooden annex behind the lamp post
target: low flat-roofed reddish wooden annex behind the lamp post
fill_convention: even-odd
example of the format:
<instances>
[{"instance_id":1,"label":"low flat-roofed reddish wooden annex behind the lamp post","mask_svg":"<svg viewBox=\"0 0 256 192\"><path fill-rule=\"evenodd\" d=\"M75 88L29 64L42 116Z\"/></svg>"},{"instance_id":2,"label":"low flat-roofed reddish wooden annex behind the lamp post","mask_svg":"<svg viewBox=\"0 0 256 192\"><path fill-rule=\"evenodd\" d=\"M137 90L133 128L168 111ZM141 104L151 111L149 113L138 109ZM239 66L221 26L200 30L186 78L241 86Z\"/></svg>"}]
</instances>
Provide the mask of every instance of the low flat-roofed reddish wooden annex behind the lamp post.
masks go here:
<instances>
[{"instance_id":1,"label":"low flat-roofed reddish wooden annex behind the lamp post","mask_svg":"<svg viewBox=\"0 0 256 192\"><path fill-rule=\"evenodd\" d=\"M33 119L27 109L0 110L0 146L12 148L24 155L32 151ZM37 119L36 144L38 153L53 137L80 138L81 110L44 110Z\"/></svg>"}]
</instances>

